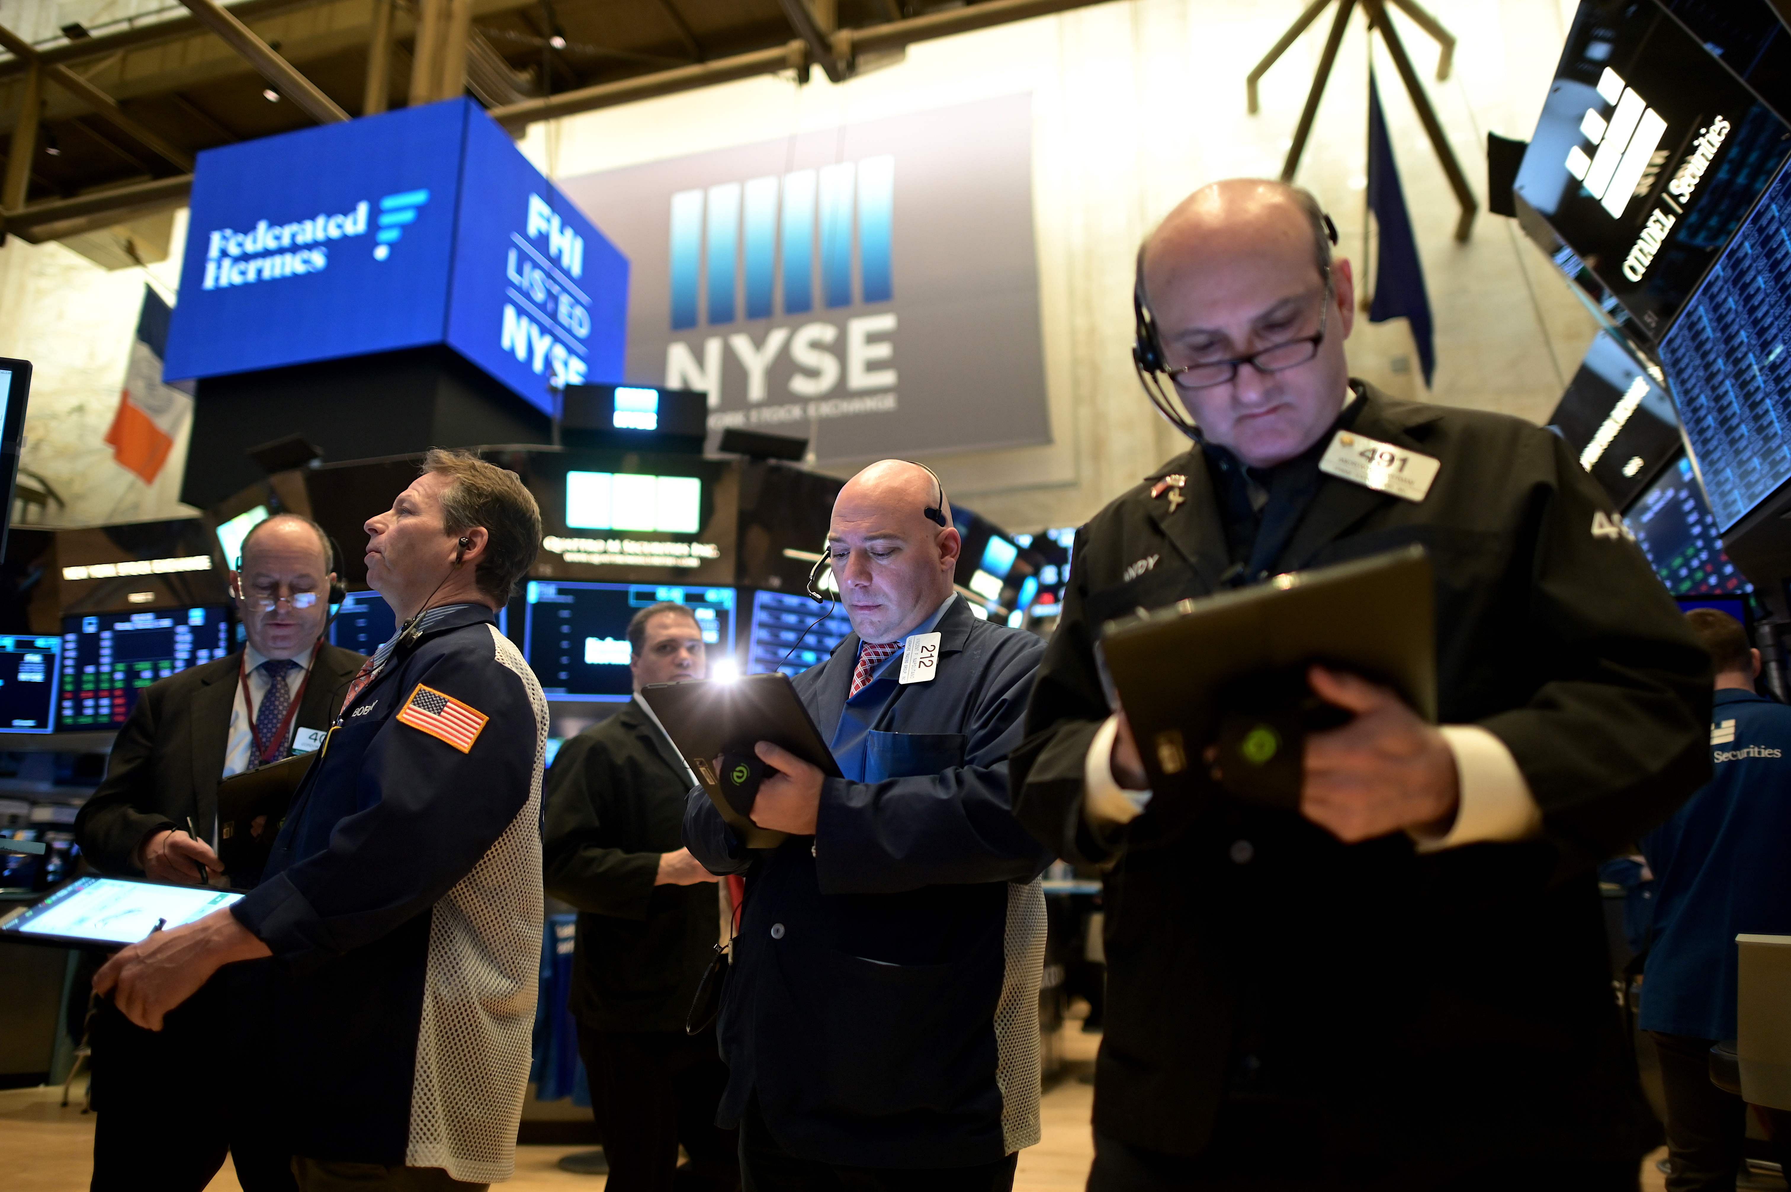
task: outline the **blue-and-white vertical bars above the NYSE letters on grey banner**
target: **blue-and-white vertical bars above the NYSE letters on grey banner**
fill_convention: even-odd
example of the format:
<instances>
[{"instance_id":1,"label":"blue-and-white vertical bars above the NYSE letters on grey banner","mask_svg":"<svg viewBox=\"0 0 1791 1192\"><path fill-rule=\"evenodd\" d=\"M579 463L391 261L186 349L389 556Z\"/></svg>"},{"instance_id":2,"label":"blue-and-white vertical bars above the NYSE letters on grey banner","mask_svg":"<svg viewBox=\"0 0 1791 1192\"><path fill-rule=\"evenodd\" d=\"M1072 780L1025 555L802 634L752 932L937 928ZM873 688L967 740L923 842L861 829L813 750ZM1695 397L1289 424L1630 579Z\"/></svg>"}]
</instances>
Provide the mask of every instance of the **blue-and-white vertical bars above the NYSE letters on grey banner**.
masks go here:
<instances>
[{"instance_id":1,"label":"blue-and-white vertical bars above the NYSE letters on grey banner","mask_svg":"<svg viewBox=\"0 0 1791 1192\"><path fill-rule=\"evenodd\" d=\"M672 330L892 301L894 213L888 154L673 194Z\"/></svg>"}]
</instances>

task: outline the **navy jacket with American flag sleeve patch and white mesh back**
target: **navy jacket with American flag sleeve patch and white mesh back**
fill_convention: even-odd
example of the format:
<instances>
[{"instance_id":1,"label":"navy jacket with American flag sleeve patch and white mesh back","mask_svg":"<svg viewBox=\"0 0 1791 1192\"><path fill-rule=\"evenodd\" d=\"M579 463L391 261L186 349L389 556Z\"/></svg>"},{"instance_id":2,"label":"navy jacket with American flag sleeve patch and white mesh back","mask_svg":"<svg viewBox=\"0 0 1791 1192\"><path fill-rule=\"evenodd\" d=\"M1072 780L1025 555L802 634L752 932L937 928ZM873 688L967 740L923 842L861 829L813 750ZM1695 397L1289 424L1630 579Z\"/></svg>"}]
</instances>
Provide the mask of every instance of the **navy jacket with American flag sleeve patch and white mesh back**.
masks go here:
<instances>
[{"instance_id":1,"label":"navy jacket with American flag sleeve patch and white mesh back","mask_svg":"<svg viewBox=\"0 0 1791 1192\"><path fill-rule=\"evenodd\" d=\"M344 708L233 912L276 957L269 1088L294 1153L491 1183L528 1081L546 701L489 608L421 624Z\"/></svg>"}]
</instances>

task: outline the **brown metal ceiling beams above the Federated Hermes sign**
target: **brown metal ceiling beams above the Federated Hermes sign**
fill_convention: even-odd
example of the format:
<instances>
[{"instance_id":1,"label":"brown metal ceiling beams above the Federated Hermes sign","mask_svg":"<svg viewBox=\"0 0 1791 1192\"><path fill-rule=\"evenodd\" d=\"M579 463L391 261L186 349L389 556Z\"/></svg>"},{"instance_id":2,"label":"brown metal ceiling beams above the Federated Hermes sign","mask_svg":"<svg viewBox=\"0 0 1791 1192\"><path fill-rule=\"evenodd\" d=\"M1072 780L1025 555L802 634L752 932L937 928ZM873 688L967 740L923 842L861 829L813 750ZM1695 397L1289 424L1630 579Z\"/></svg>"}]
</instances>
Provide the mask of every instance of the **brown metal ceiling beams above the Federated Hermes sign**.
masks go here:
<instances>
[{"instance_id":1,"label":"brown metal ceiling beams above the Federated Hermes sign","mask_svg":"<svg viewBox=\"0 0 1791 1192\"><path fill-rule=\"evenodd\" d=\"M0 237L184 204L202 149L471 93L512 133L1105 0L168 0L27 43L0 29Z\"/></svg>"}]
</instances>

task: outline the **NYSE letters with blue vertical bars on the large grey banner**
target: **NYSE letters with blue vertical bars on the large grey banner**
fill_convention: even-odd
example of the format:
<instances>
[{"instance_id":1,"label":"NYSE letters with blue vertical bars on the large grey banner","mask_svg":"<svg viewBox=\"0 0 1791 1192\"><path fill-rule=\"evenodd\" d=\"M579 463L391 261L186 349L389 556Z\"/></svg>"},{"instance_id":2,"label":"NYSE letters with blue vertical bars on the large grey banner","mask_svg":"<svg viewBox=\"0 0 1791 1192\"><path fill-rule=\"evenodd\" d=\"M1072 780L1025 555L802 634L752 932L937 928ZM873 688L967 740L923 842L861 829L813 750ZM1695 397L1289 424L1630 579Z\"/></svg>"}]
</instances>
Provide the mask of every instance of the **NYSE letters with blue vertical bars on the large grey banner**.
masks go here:
<instances>
[{"instance_id":1,"label":"NYSE letters with blue vertical bars on the large grey banner","mask_svg":"<svg viewBox=\"0 0 1791 1192\"><path fill-rule=\"evenodd\" d=\"M707 393L709 409L738 384L729 376L743 376L749 405L767 402L774 371L795 398L824 398L842 380L847 393L892 389L896 312L815 315L894 301L894 197L887 154L673 194L664 384ZM677 337L741 319L777 324Z\"/></svg>"}]
</instances>

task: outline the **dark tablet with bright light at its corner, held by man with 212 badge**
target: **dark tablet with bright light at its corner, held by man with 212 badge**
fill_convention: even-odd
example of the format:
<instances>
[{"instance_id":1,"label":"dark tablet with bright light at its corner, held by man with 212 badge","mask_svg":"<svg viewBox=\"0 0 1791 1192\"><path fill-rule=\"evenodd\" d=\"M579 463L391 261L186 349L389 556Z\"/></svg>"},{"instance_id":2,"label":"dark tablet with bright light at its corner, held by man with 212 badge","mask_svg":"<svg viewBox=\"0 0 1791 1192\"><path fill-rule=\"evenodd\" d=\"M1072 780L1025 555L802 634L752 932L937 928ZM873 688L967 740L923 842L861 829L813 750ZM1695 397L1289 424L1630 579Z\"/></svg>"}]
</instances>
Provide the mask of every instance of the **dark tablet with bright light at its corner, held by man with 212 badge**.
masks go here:
<instances>
[{"instance_id":1,"label":"dark tablet with bright light at its corner, held by man with 212 badge","mask_svg":"<svg viewBox=\"0 0 1791 1192\"><path fill-rule=\"evenodd\" d=\"M768 740L822 774L840 776L827 739L815 728L788 676L749 674L740 679L650 683L641 688L641 703L691 769L693 782L707 792L722 819L749 848L776 848L786 834L761 828L749 819L750 798L745 803L738 796L729 798L738 783L731 782L729 774L715 773L716 758L740 758L731 764L756 769L759 764L752 746ZM756 782L750 789L756 792Z\"/></svg>"}]
</instances>

